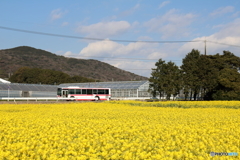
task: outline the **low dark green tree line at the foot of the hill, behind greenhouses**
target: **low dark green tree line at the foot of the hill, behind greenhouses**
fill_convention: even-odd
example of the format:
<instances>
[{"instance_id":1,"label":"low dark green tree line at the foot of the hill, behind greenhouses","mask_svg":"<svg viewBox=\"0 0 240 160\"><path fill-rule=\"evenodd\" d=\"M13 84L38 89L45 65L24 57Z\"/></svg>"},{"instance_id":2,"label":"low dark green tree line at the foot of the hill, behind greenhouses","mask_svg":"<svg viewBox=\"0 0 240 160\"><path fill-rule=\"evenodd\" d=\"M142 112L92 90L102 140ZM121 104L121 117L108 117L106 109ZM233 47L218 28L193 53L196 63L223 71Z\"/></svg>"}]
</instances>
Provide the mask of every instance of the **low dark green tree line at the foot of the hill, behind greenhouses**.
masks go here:
<instances>
[{"instance_id":1,"label":"low dark green tree line at the foot of the hill, behind greenhouses","mask_svg":"<svg viewBox=\"0 0 240 160\"><path fill-rule=\"evenodd\" d=\"M9 81L12 83L59 85L61 83L95 82L96 80L82 76L70 76L61 71L50 69L21 67L9 78Z\"/></svg>"}]
</instances>

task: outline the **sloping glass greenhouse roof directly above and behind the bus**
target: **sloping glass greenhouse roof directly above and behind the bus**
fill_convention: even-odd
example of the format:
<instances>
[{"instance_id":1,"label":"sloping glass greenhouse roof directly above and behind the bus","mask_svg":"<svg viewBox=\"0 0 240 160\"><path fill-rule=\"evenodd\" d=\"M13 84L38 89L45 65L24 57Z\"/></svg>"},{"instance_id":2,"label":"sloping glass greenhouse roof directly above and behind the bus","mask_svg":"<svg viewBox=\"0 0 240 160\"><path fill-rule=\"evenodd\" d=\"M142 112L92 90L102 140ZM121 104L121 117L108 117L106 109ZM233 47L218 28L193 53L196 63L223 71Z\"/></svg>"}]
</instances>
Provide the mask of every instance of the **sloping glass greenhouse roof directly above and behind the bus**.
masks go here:
<instances>
[{"instance_id":1,"label":"sloping glass greenhouse roof directly above and behind the bus","mask_svg":"<svg viewBox=\"0 0 240 160\"><path fill-rule=\"evenodd\" d=\"M148 81L113 81L90 83L64 83L59 87L78 86L84 88L111 88L111 89L139 89L142 85L148 85Z\"/></svg>"}]
</instances>

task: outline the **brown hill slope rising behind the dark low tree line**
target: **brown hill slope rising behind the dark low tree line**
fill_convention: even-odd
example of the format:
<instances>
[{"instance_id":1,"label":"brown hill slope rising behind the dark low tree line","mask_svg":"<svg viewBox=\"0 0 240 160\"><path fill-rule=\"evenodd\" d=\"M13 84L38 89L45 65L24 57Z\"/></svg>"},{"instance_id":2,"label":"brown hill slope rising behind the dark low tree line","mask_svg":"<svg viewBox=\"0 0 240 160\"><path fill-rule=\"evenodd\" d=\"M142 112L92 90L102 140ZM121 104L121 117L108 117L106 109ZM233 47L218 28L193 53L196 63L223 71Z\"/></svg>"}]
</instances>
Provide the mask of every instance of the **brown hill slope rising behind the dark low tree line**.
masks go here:
<instances>
[{"instance_id":1,"label":"brown hill slope rising behind the dark low tree line","mask_svg":"<svg viewBox=\"0 0 240 160\"><path fill-rule=\"evenodd\" d=\"M21 67L51 69L100 81L147 80L98 60L67 58L28 46L0 50L0 77L8 77Z\"/></svg>"}]
</instances>

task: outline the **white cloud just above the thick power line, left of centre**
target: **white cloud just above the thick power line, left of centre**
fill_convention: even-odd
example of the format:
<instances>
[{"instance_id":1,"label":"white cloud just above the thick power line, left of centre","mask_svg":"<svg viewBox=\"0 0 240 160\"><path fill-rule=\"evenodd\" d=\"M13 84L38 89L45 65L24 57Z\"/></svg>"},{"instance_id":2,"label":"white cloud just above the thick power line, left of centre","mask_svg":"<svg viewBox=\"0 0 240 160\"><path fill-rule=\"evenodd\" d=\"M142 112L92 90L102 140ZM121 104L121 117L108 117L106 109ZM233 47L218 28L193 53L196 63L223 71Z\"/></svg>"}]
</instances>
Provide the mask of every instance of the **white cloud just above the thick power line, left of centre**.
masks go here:
<instances>
[{"instance_id":1,"label":"white cloud just above the thick power line, left of centre","mask_svg":"<svg viewBox=\"0 0 240 160\"><path fill-rule=\"evenodd\" d=\"M126 32L131 25L127 21L99 22L89 26L80 25L76 31L88 37L109 38Z\"/></svg>"}]
</instances>

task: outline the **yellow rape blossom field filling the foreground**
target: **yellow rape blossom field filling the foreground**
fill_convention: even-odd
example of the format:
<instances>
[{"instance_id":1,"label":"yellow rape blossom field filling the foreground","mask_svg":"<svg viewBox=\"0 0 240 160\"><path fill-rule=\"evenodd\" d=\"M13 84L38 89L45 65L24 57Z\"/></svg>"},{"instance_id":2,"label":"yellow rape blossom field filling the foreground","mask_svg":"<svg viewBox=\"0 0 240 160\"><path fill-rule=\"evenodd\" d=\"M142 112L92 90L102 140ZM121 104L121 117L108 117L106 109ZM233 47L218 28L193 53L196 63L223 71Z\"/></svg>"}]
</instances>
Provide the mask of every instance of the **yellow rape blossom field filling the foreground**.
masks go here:
<instances>
[{"instance_id":1,"label":"yellow rape blossom field filling the foreground","mask_svg":"<svg viewBox=\"0 0 240 160\"><path fill-rule=\"evenodd\" d=\"M0 115L3 160L240 159L238 101L1 104Z\"/></svg>"}]
</instances>

